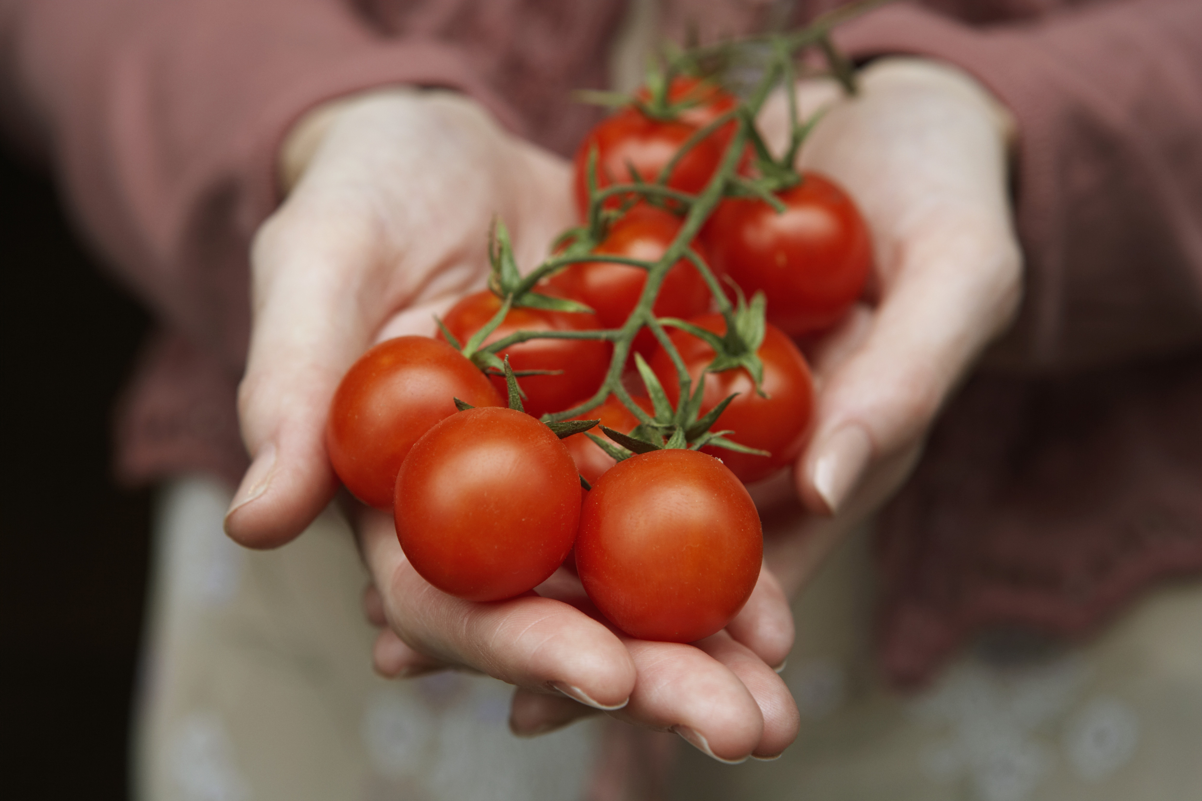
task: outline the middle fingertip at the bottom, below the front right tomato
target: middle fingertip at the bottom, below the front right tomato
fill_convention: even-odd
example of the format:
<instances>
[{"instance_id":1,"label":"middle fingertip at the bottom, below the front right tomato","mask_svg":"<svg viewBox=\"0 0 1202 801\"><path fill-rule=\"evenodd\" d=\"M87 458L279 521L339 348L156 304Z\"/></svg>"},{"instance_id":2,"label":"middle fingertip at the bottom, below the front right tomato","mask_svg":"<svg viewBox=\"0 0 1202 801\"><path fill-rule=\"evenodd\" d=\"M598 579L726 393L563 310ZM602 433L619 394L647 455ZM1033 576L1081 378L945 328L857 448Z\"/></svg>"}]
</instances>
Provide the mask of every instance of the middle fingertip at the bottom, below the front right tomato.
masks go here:
<instances>
[{"instance_id":1,"label":"middle fingertip at the bottom, below the front right tomato","mask_svg":"<svg viewBox=\"0 0 1202 801\"><path fill-rule=\"evenodd\" d=\"M763 713L730 668L691 645L633 639L625 643L638 683L630 704L613 717L676 731L722 763L740 763L760 747Z\"/></svg>"}]
</instances>

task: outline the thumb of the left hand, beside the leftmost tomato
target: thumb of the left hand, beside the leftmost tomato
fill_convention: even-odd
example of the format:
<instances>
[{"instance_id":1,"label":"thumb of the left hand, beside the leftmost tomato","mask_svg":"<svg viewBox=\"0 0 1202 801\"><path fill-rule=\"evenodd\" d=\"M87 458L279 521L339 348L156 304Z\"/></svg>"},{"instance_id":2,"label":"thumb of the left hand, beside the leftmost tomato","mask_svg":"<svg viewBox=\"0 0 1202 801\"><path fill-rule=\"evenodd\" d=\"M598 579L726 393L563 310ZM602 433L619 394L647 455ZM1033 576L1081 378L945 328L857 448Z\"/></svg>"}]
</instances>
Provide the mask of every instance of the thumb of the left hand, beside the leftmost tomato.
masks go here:
<instances>
[{"instance_id":1,"label":"thumb of the left hand, beside the leftmost tomato","mask_svg":"<svg viewBox=\"0 0 1202 801\"><path fill-rule=\"evenodd\" d=\"M371 259L370 232L353 215L320 210L290 202L255 242L254 327L238 391L254 462L226 516L230 535L250 547L286 542L333 497L326 415L369 337L347 266Z\"/></svg>"}]
</instances>

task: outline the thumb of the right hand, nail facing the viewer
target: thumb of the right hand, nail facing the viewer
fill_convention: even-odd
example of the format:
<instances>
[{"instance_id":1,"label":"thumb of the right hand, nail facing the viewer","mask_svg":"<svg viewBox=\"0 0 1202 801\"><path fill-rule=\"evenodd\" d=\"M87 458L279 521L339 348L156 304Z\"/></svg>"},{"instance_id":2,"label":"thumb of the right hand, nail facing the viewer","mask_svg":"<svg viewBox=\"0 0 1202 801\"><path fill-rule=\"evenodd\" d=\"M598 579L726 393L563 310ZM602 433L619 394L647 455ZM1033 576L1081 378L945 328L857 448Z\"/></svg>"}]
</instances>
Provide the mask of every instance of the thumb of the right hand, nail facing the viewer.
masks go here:
<instances>
[{"instance_id":1,"label":"thumb of the right hand, nail facing the viewer","mask_svg":"<svg viewBox=\"0 0 1202 801\"><path fill-rule=\"evenodd\" d=\"M947 397L1014 315L1012 239L993 220L965 216L951 227L911 239L881 304L838 332L858 342L819 355L815 433L796 473L815 511L839 511L853 494L855 506L870 508L891 494Z\"/></svg>"}]
</instances>

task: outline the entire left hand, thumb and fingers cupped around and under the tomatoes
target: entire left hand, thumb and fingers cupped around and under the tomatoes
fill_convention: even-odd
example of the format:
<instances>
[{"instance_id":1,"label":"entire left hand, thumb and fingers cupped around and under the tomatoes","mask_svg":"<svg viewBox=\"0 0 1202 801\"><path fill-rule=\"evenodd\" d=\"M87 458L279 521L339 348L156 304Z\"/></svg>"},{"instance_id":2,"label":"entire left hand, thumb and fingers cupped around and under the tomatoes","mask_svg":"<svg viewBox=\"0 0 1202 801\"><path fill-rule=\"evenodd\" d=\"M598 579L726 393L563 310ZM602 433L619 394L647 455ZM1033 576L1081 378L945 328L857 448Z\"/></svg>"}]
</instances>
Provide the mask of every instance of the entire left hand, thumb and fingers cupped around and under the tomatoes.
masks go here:
<instances>
[{"instance_id":1,"label":"entire left hand, thumb and fingers cupped around and under the tomatoes","mask_svg":"<svg viewBox=\"0 0 1202 801\"><path fill-rule=\"evenodd\" d=\"M255 462L226 527L255 547L287 541L329 502L323 432L343 373L374 342L433 332L432 314L486 274L494 214L525 265L573 221L567 165L504 134L470 100L374 93L299 129L284 159L296 186L252 259L240 414ZM796 706L768 668L792 645L769 574L725 633L696 647L639 642L577 609L587 599L563 577L540 588L543 598L446 595L409 565L391 517L356 514L379 588L369 611L389 627L375 653L382 672L450 665L514 683L513 726L525 734L621 707L611 712L676 729L721 759L772 756L796 736Z\"/></svg>"}]
</instances>

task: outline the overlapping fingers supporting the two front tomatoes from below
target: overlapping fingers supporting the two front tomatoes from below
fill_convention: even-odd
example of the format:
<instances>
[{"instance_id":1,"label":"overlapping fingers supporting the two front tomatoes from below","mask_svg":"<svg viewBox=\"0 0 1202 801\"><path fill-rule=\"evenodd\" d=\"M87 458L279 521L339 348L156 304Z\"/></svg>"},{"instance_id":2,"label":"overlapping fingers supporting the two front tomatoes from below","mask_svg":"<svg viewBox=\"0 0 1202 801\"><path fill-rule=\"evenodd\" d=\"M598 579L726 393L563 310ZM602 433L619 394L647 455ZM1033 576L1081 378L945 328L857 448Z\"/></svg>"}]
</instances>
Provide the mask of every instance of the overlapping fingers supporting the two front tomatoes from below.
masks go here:
<instances>
[{"instance_id":1,"label":"overlapping fingers supporting the two front tomatoes from below","mask_svg":"<svg viewBox=\"0 0 1202 801\"><path fill-rule=\"evenodd\" d=\"M466 668L516 684L510 725L522 735L603 711L676 731L722 761L775 756L797 736L797 706L769 668L792 646L792 617L767 570L724 631L692 645L648 642L603 623L566 570L535 593L476 604L417 575L391 516L364 510L359 534L382 675Z\"/></svg>"}]
</instances>

